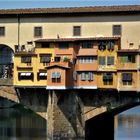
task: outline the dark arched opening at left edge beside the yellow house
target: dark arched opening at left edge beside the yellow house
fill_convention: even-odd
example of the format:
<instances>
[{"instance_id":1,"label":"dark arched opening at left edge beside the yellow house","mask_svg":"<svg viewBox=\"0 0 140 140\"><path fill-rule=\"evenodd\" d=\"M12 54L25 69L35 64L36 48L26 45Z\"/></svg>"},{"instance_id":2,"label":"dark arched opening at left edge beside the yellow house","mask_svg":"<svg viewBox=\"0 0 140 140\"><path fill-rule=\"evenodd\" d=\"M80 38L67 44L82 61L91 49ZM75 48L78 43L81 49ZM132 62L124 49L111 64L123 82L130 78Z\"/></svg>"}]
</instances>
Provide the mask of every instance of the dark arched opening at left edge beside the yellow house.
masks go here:
<instances>
[{"instance_id":1,"label":"dark arched opening at left edge beside the yellow house","mask_svg":"<svg viewBox=\"0 0 140 140\"><path fill-rule=\"evenodd\" d=\"M5 44L0 44L0 80L13 77L14 50ZM0 81L3 85L5 81Z\"/></svg>"}]
</instances>

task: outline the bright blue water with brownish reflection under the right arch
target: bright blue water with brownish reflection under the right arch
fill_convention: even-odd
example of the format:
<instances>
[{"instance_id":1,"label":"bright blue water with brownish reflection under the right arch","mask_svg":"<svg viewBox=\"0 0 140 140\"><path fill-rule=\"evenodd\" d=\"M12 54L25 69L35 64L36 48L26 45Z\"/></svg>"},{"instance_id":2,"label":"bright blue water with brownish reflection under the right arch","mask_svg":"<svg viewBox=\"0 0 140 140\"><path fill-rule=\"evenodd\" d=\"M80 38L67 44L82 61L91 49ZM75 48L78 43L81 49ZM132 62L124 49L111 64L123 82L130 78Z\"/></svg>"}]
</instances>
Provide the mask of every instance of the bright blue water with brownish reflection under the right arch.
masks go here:
<instances>
[{"instance_id":1,"label":"bright blue water with brownish reflection under the right arch","mask_svg":"<svg viewBox=\"0 0 140 140\"><path fill-rule=\"evenodd\" d=\"M140 139L140 106L119 114L117 118L115 140Z\"/></svg>"}]
</instances>

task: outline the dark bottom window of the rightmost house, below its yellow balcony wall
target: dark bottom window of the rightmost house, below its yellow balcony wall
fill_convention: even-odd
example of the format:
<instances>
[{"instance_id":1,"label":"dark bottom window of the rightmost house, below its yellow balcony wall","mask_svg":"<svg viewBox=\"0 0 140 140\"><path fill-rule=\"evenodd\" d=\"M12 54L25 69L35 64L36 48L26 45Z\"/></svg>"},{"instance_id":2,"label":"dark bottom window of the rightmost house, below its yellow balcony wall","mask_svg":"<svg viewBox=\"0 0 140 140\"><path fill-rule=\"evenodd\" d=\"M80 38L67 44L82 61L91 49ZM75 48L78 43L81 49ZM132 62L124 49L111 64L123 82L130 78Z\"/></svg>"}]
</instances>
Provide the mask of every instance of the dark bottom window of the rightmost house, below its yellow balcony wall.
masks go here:
<instances>
[{"instance_id":1,"label":"dark bottom window of the rightmost house, below its yellow balcony wall","mask_svg":"<svg viewBox=\"0 0 140 140\"><path fill-rule=\"evenodd\" d=\"M132 73L122 73L123 85L132 85Z\"/></svg>"}]
</instances>

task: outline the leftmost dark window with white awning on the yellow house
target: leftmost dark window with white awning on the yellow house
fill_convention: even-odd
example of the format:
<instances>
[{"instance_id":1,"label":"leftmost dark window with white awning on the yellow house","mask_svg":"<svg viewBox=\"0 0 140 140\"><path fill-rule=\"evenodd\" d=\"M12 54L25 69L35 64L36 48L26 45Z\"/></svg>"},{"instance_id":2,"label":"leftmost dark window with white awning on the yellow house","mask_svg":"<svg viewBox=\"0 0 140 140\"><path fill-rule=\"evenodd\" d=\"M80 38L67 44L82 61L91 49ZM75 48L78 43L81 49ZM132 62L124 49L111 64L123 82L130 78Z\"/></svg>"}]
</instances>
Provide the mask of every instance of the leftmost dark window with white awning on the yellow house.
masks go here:
<instances>
[{"instance_id":1,"label":"leftmost dark window with white awning on the yellow house","mask_svg":"<svg viewBox=\"0 0 140 140\"><path fill-rule=\"evenodd\" d=\"M33 73L32 72L18 73L18 79L19 80L33 80Z\"/></svg>"}]
</instances>

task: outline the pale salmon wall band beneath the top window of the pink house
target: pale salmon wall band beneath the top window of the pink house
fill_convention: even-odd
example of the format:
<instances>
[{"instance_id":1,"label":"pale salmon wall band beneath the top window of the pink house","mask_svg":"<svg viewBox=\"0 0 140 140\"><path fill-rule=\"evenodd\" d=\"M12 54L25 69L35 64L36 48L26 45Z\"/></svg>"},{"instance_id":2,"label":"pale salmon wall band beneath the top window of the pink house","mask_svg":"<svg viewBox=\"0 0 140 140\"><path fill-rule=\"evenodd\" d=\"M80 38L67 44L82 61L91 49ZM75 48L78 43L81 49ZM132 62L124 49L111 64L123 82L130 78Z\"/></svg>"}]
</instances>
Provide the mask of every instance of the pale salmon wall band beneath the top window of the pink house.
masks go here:
<instances>
[{"instance_id":1,"label":"pale salmon wall band beneath the top window of the pink house","mask_svg":"<svg viewBox=\"0 0 140 140\"><path fill-rule=\"evenodd\" d=\"M77 56L97 56L97 49L93 48L81 48L77 54Z\"/></svg>"}]
</instances>

